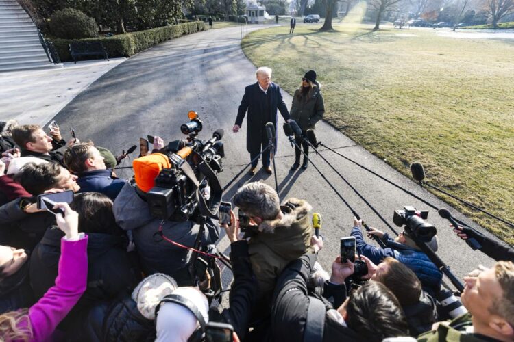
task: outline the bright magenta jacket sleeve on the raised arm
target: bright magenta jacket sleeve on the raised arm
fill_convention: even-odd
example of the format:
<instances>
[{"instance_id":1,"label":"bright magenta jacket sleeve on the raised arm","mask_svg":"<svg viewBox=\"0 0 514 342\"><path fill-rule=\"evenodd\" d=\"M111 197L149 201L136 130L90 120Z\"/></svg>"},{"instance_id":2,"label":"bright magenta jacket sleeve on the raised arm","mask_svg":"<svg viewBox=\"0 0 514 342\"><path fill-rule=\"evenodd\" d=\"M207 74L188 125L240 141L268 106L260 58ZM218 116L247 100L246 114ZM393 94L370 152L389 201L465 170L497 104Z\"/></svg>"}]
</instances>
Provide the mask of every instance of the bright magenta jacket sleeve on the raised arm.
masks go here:
<instances>
[{"instance_id":1,"label":"bright magenta jacket sleeve on the raised arm","mask_svg":"<svg viewBox=\"0 0 514 342\"><path fill-rule=\"evenodd\" d=\"M87 247L87 235L77 241L61 239L59 275L56 278L56 285L29 308L29 319L32 325L31 341L51 341L53 331L86 291ZM26 321L23 322L25 323L20 325L26 326Z\"/></svg>"}]
</instances>

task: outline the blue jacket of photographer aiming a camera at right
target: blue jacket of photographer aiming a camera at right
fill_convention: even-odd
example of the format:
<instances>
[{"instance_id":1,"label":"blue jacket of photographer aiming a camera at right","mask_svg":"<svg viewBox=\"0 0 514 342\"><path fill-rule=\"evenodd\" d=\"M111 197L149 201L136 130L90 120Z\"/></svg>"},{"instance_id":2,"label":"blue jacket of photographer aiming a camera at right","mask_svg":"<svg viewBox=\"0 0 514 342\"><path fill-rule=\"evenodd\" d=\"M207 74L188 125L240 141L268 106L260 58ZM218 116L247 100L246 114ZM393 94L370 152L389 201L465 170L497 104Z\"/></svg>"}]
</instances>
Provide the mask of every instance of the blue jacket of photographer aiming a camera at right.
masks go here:
<instances>
[{"instance_id":1,"label":"blue jacket of photographer aiming a camera at right","mask_svg":"<svg viewBox=\"0 0 514 342\"><path fill-rule=\"evenodd\" d=\"M386 257L393 257L413 270L417 278L419 278L419 281L421 281L421 287L423 287L423 290L428 294L433 296L441 289L443 274L439 272L439 269L428 259L424 252L415 250L404 244L398 244L387 234L384 234L384 239L387 240L387 246L390 247L379 248L366 244L360 227L354 227L351 235L355 237L357 251L365 257L368 257L376 265L381 263Z\"/></svg>"}]
</instances>

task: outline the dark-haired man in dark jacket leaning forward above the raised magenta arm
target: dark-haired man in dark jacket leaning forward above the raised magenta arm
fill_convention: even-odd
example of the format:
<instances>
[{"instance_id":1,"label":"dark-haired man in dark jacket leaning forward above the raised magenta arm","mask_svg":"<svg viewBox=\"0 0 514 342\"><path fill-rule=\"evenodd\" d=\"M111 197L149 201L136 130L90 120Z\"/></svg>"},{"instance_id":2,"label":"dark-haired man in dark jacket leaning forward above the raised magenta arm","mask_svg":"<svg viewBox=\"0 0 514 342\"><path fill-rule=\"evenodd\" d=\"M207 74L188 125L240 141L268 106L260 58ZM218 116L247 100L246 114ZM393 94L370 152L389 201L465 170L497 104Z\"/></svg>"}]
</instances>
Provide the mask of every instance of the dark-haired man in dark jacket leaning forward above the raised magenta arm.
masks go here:
<instances>
[{"instance_id":1,"label":"dark-haired man in dark jacket leaning forward above the raised magenta arm","mask_svg":"<svg viewBox=\"0 0 514 342\"><path fill-rule=\"evenodd\" d=\"M77 192L80 187L76 179L77 176L70 174L58 163L25 165L14 176L14 181L19 182L34 197L17 198L0 207L1 235L5 239L0 244L32 250L46 229L56 224L53 214L38 209L35 196L63 190Z\"/></svg>"}]
</instances>

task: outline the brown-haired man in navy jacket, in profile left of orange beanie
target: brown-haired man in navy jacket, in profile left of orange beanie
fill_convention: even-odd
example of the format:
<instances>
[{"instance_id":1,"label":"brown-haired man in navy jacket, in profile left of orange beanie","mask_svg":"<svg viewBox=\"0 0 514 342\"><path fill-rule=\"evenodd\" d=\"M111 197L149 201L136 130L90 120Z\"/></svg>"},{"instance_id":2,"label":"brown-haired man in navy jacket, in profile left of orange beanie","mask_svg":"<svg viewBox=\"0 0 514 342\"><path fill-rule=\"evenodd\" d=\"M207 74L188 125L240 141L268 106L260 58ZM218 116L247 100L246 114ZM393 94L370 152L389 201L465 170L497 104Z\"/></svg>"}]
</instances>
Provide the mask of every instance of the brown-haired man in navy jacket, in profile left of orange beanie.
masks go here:
<instances>
[{"instance_id":1,"label":"brown-haired man in navy jacket, in profile left of orange beanie","mask_svg":"<svg viewBox=\"0 0 514 342\"><path fill-rule=\"evenodd\" d=\"M80 192L99 192L114 200L127 182L113 178L103 159L93 142L73 144L64 151L64 163L78 176Z\"/></svg>"}]
</instances>

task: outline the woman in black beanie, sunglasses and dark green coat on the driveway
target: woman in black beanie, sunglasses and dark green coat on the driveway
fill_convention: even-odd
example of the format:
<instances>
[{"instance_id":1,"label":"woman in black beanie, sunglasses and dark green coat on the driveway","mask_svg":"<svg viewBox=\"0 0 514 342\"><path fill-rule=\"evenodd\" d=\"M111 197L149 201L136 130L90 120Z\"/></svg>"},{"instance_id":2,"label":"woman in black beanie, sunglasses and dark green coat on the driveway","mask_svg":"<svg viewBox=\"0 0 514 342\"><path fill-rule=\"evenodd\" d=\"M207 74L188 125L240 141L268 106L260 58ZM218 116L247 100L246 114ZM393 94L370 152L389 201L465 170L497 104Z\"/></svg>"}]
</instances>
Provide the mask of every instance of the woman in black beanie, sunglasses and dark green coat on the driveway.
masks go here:
<instances>
[{"instance_id":1,"label":"woman in black beanie, sunglasses and dark green coat on the driveway","mask_svg":"<svg viewBox=\"0 0 514 342\"><path fill-rule=\"evenodd\" d=\"M308 129L314 129L316 122L323 118L325 113L325 105L323 104L323 95L321 95L321 85L316 81L316 72L309 70L302 78L302 86L300 86L293 96L293 104L289 114L302 129L302 135L306 137ZM298 141L298 139L297 139ZM309 146L307 142L302 141L304 153L309 153ZM296 170L299 167L299 157L302 151L298 147L295 148L296 159L291 170ZM302 168L307 168L308 160L304 157Z\"/></svg>"}]
</instances>

